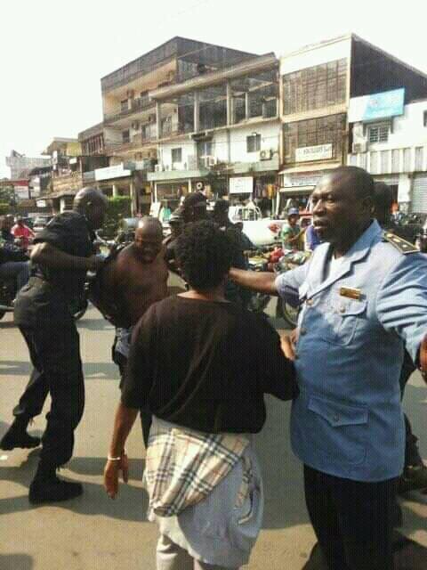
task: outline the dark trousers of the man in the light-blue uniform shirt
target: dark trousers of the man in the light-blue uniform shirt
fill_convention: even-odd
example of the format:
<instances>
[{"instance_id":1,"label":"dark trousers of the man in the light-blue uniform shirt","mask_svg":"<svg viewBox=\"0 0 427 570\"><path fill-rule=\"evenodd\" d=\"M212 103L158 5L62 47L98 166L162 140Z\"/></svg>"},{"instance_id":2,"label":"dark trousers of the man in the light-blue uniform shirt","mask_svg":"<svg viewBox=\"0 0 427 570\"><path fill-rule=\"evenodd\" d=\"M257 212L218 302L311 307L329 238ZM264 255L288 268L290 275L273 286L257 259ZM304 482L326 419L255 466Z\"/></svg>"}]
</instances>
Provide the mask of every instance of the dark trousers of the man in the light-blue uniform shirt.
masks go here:
<instances>
[{"instance_id":1,"label":"dark trousers of the man in the light-blue uniform shirt","mask_svg":"<svg viewBox=\"0 0 427 570\"><path fill-rule=\"evenodd\" d=\"M304 466L311 525L329 570L393 570L397 479L364 483Z\"/></svg>"}]
</instances>

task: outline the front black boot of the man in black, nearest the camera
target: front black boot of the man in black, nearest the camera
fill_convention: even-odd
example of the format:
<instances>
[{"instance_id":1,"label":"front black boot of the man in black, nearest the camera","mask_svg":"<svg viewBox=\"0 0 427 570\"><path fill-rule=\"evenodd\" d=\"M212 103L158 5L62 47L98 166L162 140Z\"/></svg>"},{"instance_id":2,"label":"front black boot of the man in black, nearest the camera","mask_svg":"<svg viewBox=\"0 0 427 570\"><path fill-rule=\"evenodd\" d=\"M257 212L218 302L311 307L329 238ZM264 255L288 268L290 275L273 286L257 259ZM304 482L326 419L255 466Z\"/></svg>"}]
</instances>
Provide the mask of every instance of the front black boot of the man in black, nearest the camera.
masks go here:
<instances>
[{"instance_id":1,"label":"front black boot of the man in black, nearest the camera","mask_svg":"<svg viewBox=\"0 0 427 570\"><path fill-rule=\"evenodd\" d=\"M68 501L82 493L81 483L62 481L56 476L56 468L46 466L40 461L36 476L29 485L28 500L32 504Z\"/></svg>"}]
</instances>

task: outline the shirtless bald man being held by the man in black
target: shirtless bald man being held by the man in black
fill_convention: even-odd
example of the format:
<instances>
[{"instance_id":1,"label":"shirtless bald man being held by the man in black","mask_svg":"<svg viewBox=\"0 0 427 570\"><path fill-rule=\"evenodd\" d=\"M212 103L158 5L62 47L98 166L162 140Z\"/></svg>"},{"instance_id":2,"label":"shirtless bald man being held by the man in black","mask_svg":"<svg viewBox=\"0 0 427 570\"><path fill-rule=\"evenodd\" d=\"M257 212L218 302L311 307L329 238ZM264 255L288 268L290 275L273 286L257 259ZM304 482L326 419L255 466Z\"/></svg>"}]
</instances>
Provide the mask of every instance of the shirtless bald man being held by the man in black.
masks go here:
<instances>
[{"instance_id":1,"label":"shirtless bald man being held by the man in black","mask_svg":"<svg viewBox=\"0 0 427 570\"><path fill-rule=\"evenodd\" d=\"M167 297L168 269L162 248L162 224L154 217L138 222L133 243L119 251L98 274L98 290L91 300L116 327L113 362L125 381L127 359L134 325L150 305ZM151 414L141 409L142 434L147 447Z\"/></svg>"}]
</instances>

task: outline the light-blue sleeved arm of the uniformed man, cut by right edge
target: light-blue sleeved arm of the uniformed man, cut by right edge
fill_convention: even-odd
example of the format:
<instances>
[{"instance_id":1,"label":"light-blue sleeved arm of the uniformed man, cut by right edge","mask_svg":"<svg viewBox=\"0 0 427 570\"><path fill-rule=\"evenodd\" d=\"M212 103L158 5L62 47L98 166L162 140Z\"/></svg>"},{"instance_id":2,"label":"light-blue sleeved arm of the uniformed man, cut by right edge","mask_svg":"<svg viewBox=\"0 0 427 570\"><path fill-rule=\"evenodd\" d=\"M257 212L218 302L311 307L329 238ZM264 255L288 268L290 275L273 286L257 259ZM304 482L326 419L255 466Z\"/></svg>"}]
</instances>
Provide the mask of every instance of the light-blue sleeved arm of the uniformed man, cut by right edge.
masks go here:
<instances>
[{"instance_id":1,"label":"light-blue sleeved arm of the uniformed man, cut by right edge","mask_svg":"<svg viewBox=\"0 0 427 570\"><path fill-rule=\"evenodd\" d=\"M376 312L386 330L405 341L407 352L427 372L427 259L401 256L378 290ZM427 374L423 374L426 379Z\"/></svg>"}]
</instances>

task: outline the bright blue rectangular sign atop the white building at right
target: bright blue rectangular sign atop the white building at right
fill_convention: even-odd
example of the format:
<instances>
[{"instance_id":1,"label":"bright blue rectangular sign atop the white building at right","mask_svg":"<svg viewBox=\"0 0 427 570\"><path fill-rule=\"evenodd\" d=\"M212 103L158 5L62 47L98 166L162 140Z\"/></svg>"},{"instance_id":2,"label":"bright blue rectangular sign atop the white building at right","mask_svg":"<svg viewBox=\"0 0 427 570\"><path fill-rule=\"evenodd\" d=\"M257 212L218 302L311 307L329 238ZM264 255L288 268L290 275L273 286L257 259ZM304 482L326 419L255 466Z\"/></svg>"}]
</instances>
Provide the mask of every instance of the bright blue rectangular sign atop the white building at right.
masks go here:
<instances>
[{"instance_id":1,"label":"bright blue rectangular sign atop the white building at right","mask_svg":"<svg viewBox=\"0 0 427 570\"><path fill-rule=\"evenodd\" d=\"M350 99L349 123L398 117L403 115L404 105L404 88L373 95L364 95L363 97L354 97Z\"/></svg>"}]
</instances>

